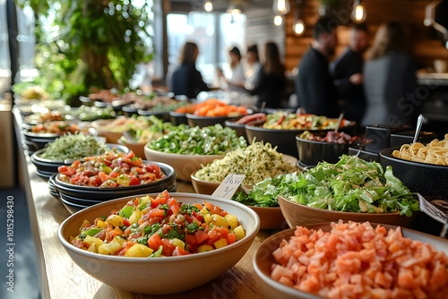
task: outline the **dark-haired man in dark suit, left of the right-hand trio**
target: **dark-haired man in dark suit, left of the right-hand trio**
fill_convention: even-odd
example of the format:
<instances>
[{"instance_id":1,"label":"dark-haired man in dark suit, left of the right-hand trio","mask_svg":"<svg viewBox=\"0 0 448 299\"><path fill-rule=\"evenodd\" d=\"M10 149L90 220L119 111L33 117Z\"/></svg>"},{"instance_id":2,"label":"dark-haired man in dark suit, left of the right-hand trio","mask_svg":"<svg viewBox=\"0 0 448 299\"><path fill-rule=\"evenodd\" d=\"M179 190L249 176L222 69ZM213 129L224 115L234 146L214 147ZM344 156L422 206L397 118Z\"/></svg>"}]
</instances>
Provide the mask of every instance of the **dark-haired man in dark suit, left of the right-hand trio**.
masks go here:
<instances>
[{"instance_id":1,"label":"dark-haired man in dark suit, left of the right-hand trio","mask_svg":"<svg viewBox=\"0 0 448 299\"><path fill-rule=\"evenodd\" d=\"M314 25L314 40L298 64L295 78L298 107L306 113L336 117L339 115L336 90L329 71L334 55L339 22L323 16Z\"/></svg>"}]
</instances>

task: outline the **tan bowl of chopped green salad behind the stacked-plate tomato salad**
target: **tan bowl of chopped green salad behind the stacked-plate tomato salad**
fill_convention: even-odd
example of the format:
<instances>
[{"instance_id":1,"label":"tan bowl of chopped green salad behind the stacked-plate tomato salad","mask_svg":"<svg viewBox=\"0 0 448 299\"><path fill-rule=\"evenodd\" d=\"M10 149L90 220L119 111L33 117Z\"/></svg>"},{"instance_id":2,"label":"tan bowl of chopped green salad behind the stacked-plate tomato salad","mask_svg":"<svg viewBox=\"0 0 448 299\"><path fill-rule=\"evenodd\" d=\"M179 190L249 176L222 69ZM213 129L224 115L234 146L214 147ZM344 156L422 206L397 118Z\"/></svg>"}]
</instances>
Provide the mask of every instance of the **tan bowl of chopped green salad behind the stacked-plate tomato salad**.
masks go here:
<instances>
[{"instance_id":1,"label":"tan bowl of chopped green salad behind the stacked-plate tomato salad","mask_svg":"<svg viewBox=\"0 0 448 299\"><path fill-rule=\"evenodd\" d=\"M148 142L144 152L148 160L167 163L175 168L178 179L189 182L191 175L203 165L246 146L243 137L220 124L204 128L180 124L159 139Z\"/></svg>"}]
</instances>

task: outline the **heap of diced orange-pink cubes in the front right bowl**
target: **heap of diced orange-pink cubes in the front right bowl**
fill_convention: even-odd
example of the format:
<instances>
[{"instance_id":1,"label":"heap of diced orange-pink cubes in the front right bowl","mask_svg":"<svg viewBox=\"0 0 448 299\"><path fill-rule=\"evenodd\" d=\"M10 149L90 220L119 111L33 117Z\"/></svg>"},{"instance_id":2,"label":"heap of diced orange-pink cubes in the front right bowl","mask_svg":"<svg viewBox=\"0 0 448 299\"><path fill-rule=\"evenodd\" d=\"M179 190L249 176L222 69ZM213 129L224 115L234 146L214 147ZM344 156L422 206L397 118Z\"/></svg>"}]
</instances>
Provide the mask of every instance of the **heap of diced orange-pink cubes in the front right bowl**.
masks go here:
<instances>
[{"instance_id":1,"label":"heap of diced orange-pink cubes in the front right bowl","mask_svg":"<svg viewBox=\"0 0 448 299\"><path fill-rule=\"evenodd\" d=\"M428 243L370 223L297 226L272 253L271 278L327 298L447 298L448 258Z\"/></svg>"}]
</instances>

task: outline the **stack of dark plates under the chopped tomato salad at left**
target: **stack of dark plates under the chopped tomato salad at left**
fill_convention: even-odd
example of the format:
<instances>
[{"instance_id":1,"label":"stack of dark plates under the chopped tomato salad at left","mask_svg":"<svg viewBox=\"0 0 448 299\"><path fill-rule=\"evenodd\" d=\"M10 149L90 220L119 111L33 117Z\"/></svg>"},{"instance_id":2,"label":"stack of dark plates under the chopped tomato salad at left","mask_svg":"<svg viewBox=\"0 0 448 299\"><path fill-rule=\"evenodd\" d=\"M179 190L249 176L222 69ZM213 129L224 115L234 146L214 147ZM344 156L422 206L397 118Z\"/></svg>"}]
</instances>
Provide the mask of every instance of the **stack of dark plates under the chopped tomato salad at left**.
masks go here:
<instances>
[{"instance_id":1,"label":"stack of dark plates under the chopped tomato salad at left","mask_svg":"<svg viewBox=\"0 0 448 299\"><path fill-rule=\"evenodd\" d=\"M110 201L116 198L142 195L148 193L157 193L168 190L168 192L177 192L177 175L173 167L167 164L143 161L145 164L156 164L166 175L163 179L151 184L140 184L135 186L99 188L90 186L80 186L67 184L59 180L59 174L51 175L48 180L48 188L52 191L52 184L56 187L59 199L65 205L69 212L75 213L80 209L90 207L99 202Z\"/></svg>"}]
</instances>

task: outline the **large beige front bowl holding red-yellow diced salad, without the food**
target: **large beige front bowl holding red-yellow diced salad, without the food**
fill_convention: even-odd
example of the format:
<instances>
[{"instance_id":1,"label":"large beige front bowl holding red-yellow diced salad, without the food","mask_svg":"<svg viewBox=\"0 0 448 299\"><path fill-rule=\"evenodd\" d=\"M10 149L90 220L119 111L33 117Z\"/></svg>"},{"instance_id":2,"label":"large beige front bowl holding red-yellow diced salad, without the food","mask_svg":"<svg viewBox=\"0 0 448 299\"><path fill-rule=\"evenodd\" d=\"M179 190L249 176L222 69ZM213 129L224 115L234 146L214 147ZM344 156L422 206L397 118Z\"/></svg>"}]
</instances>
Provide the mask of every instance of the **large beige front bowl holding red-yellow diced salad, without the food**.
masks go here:
<instances>
[{"instance_id":1,"label":"large beige front bowl holding red-yellow diced salad, without the food","mask_svg":"<svg viewBox=\"0 0 448 299\"><path fill-rule=\"evenodd\" d=\"M157 196L157 193L150 194ZM135 196L103 202L82 209L66 218L59 226L57 235L73 261L93 278L108 286L141 294L175 294L193 289L219 277L231 269L246 254L260 229L260 218L253 209L236 201L193 193L170 193L183 203L211 202L237 216L246 230L246 236L226 247L211 252L160 258L130 258L87 252L73 246L67 240L78 235L84 219L107 216L112 209L121 209Z\"/></svg>"}]
</instances>

